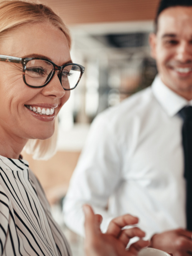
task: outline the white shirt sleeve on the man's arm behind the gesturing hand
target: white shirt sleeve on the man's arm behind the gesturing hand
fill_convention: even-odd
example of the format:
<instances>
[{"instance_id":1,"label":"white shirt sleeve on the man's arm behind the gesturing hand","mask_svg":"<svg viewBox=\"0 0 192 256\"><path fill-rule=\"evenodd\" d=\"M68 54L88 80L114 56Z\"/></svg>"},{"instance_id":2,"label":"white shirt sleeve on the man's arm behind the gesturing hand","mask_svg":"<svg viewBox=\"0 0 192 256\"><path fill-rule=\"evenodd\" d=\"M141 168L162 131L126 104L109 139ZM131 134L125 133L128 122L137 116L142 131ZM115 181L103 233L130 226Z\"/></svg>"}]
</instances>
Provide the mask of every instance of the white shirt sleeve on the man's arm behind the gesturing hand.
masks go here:
<instances>
[{"instance_id":1,"label":"white shirt sleeve on the man's arm behind the gesturing hand","mask_svg":"<svg viewBox=\"0 0 192 256\"><path fill-rule=\"evenodd\" d=\"M103 232L115 217L108 213L107 207L109 196L121 181L120 158L110 120L100 114L91 125L63 203L65 223L74 232L84 235L84 203L91 204L94 212L103 216Z\"/></svg>"}]
</instances>

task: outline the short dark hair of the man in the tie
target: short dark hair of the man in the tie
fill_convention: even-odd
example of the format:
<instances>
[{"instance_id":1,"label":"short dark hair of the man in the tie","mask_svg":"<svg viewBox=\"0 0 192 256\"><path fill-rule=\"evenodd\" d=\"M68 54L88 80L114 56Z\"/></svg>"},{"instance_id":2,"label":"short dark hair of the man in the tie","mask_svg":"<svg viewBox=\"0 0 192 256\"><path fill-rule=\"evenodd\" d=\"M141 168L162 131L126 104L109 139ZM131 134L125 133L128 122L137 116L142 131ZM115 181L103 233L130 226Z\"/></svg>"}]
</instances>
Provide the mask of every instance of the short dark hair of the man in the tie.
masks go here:
<instances>
[{"instance_id":1,"label":"short dark hair of the man in the tie","mask_svg":"<svg viewBox=\"0 0 192 256\"><path fill-rule=\"evenodd\" d=\"M157 8L156 18L155 18L155 33L157 32L157 23L160 13L169 8L175 6L192 6L192 0L161 0L159 2L159 7Z\"/></svg>"}]
</instances>

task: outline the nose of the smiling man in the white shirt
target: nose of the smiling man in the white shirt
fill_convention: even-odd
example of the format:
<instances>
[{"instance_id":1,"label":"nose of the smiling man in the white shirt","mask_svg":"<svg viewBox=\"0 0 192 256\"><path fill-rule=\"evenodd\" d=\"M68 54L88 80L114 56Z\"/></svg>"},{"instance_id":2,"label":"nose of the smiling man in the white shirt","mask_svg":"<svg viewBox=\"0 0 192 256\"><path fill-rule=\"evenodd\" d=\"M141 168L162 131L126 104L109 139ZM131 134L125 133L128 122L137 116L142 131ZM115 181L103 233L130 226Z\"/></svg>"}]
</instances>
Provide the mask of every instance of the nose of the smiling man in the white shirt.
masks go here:
<instances>
[{"instance_id":1,"label":"nose of the smiling man in the white shirt","mask_svg":"<svg viewBox=\"0 0 192 256\"><path fill-rule=\"evenodd\" d=\"M192 61L192 45L188 42L181 42L177 47L176 59L182 63Z\"/></svg>"}]
</instances>

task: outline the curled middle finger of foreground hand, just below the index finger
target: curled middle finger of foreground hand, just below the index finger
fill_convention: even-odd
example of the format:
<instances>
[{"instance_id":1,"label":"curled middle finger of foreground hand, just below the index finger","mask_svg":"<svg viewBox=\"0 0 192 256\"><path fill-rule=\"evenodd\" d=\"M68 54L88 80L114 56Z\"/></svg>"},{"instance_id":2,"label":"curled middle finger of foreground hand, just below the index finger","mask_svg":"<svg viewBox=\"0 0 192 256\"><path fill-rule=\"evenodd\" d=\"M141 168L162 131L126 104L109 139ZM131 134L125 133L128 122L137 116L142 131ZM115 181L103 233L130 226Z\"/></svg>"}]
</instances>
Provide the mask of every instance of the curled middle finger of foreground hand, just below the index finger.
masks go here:
<instances>
[{"instance_id":1,"label":"curled middle finger of foreground hand, just below the index finger","mask_svg":"<svg viewBox=\"0 0 192 256\"><path fill-rule=\"evenodd\" d=\"M134 236L138 236L140 238L145 236L145 232L142 231L141 229L135 227L135 228L129 228L129 229L124 229L121 231L119 235L119 240L124 244L126 247L127 244L129 243L129 240L133 238Z\"/></svg>"}]
</instances>

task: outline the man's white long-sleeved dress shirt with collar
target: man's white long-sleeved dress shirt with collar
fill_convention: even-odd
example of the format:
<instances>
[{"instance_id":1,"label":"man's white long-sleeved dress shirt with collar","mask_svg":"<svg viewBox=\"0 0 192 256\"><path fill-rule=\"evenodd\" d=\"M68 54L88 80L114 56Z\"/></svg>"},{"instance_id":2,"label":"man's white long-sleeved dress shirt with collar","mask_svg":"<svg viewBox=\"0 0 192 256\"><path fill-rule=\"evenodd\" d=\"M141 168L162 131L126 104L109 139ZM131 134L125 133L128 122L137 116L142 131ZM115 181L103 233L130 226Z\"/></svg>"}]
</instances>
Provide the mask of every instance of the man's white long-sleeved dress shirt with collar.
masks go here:
<instances>
[{"instance_id":1,"label":"man's white long-sleeved dress shirt with collar","mask_svg":"<svg viewBox=\"0 0 192 256\"><path fill-rule=\"evenodd\" d=\"M99 114L64 201L67 226L84 233L82 204L89 203L109 221L130 213L139 217L146 238L185 228L182 119L192 105L157 76L152 86Z\"/></svg>"}]
</instances>

